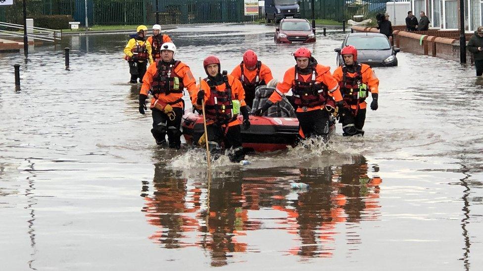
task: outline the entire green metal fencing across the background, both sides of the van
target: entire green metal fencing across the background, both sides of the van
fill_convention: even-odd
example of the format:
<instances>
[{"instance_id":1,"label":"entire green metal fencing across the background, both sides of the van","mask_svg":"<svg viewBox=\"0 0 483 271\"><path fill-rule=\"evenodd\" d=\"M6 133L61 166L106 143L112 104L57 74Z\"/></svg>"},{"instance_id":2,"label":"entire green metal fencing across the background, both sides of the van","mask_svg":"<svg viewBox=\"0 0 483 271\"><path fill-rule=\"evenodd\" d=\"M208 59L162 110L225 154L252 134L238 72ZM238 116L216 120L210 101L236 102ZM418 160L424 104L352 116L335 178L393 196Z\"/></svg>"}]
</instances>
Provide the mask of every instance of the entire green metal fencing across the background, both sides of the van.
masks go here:
<instances>
[{"instance_id":1,"label":"entire green metal fencing across the background, both sides of the van","mask_svg":"<svg viewBox=\"0 0 483 271\"><path fill-rule=\"evenodd\" d=\"M354 15L375 18L386 10L387 1L314 0L315 16L339 22L353 19ZM21 2L14 1L14 5L21 6ZM302 17L312 17L311 2L300 0ZM260 17L245 16L243 0L87 0L89 25L153 24L156 4L161 24L246 22ZM27 5L28 14L69 14L76 21L85 21L85 0L27 0ZM16 18L22 18L21 8L13 13L5 10L0 8L1 20L20 23Z\"/></svg>"}]
</instances>

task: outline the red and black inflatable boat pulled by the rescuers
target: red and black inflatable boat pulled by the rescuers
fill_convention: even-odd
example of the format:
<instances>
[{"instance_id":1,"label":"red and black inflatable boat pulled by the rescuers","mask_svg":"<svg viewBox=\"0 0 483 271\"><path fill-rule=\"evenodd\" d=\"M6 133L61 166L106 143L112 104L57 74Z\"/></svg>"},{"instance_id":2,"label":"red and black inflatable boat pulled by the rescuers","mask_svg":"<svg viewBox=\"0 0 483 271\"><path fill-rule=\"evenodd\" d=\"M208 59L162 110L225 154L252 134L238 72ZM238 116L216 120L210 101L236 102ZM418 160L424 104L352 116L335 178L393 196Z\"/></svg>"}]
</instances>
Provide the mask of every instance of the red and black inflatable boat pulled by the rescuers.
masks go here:
<instances>
[{"instance_id":1,"label":"red and black inflatable boat pulled by the rescuers","mask_svg":"<svg viewBox=\"0 0 483 271\"><path fill-rule=\"evenodd\" d=\"M241 129L245 152L273 152L295 145L298 135L297 118L250 115L250 123L250 128ZM186 142L192 145L204 133L203 116L186 112L182 126Z\"/></svg>"}]
</instances>

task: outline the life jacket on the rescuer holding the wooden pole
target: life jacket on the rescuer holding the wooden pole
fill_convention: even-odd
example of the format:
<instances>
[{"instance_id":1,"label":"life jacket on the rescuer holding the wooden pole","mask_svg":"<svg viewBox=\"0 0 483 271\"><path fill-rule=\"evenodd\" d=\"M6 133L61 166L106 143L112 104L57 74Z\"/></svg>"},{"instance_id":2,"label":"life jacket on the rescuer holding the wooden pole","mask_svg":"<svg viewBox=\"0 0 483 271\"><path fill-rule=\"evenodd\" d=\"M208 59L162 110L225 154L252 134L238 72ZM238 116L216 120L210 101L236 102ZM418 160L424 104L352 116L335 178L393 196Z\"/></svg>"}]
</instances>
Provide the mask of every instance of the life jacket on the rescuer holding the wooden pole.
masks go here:
<instances>
[{"instance_id":1,"label":"life jacket on the rescuer holding the wooden pole","mask_svg":"<svg viewBox=\"0 0 483 271\"><path fill-rule=\"evenodd\" d=\"M205 103L206 118L219 124L228 124L235 120L237 115L233 114L232 87L228 82L226 71L223 71L225 90L217 90L216 83L209 77L203 80L210 86L210 98Z\"/></svg>"}]
</instances>

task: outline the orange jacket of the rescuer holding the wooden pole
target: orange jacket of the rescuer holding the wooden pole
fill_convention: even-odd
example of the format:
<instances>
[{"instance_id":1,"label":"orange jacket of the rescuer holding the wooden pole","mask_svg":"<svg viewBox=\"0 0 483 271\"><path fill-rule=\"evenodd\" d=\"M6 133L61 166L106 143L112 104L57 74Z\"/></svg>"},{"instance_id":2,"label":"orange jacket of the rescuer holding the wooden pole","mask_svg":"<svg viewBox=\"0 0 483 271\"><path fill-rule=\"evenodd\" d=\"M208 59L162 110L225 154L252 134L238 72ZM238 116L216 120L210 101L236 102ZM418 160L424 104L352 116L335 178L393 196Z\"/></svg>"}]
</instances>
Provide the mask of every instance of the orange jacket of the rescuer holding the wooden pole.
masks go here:
<instances>
[{"instance_id":1,"label":"orange jacket of the rescuer holding the wooden pole","mask_svg":"<svg viewBox=\"0 0 483 271\"><path fill-rule=\"evenodd\" d=\"M227 77L228 77L228 84L231 86L231 89L232 89L232 100L239 100L240 101L240 107L246 106L245 90L243 90L243 86L241 85L240 80L231 76L231 75L227 75ZM198 90L200 89L199 84L197 85L197 89ZM201 89L204 91L204 101L206 102L207 100L210 99L211 89L210 89L210 86L208 85L208 83L205 80L201 80ZM218 91L226 91L225 82L217 85L216 89ZM192 103L193 103L194 107L196 107L197 109L201 109L201 106L198 106L196 104L197 95L192 95L191 98L192 98ZM211 123L213 123L213 121L209 121L209 123L211 124ZM234 125L239 125L239 124L241 124L240 121L238 119L235 119L232 122L228 123L228 126L234 126Z\"/></svg>"}]
</instances>

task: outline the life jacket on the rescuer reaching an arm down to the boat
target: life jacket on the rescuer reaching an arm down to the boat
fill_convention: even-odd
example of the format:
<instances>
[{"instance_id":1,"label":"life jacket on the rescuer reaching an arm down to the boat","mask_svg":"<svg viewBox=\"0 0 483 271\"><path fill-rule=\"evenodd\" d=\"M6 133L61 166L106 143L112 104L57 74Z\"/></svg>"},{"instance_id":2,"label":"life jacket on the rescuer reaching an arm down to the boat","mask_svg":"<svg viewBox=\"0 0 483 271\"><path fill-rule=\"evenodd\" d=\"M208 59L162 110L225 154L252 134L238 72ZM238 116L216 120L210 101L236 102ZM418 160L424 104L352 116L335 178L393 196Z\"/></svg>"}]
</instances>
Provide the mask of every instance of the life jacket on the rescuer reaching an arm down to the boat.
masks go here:
<instances>
[{"instance_id":1,"label":"life jacket on the rescuer reaching an arm down to the boat","mask_svg":"<svg viewBox=\"0 0 483 271\"><path fill-rule=\"evenodd\" d=\"M328 94L329 88L324 83L318 83L315 80L315 78L317 78L316 65L317 64L311 64L307 67L312 74L307 81L304 81L304 79L299 76L299 69L295 66L295 85L292 87L292 92L293 102L298 107L324 106L330 99Z\"/></svg>"}]
</instances>

